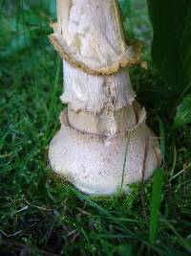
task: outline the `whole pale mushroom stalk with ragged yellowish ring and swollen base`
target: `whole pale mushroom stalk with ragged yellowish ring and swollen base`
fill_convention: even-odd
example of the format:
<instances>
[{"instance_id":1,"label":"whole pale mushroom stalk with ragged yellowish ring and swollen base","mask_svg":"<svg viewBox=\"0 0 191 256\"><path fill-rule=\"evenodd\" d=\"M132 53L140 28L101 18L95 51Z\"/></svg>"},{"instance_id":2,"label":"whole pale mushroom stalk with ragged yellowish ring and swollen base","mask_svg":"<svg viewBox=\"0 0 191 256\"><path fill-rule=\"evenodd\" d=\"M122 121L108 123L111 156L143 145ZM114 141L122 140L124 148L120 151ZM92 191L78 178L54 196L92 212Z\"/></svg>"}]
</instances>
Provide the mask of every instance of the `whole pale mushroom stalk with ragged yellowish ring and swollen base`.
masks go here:
<instances>
[{"instance_id":1,"label":"whole pale mushroom stalk with ragged yellowish ring and swollen base","mask_svg":"<svg viewBox=\"0 0 191 256\"><path fill-rule=\"evenodd\" d=\"M50 38L63 58L68 108L50 165L86 194L127 193L160 165L159 142L126 70L140 62L139 47L124 40L116 0L57 0L57 17Z\"/></svg>"}]
</instances>

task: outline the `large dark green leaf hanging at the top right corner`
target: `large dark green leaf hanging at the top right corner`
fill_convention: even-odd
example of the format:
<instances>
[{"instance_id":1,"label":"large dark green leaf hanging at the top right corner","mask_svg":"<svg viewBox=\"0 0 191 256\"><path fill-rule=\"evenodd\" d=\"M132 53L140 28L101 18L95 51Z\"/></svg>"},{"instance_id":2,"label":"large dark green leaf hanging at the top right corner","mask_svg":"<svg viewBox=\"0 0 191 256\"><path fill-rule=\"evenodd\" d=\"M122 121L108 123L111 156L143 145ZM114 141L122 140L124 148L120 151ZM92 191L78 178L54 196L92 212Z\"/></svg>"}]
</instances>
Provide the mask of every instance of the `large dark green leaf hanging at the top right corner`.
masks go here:
<instances>
[{"instance_id":1,"label":"large dark green leaf hanging at the top right corner","mask_svg":"<svg viewBox=\"0 0 191 256\"><path fill-rule=\"evenodd\" d=\"M178 95L191 81L191 1L147 1L154 29L152 57Z\"/></svg>"}]
</instances>

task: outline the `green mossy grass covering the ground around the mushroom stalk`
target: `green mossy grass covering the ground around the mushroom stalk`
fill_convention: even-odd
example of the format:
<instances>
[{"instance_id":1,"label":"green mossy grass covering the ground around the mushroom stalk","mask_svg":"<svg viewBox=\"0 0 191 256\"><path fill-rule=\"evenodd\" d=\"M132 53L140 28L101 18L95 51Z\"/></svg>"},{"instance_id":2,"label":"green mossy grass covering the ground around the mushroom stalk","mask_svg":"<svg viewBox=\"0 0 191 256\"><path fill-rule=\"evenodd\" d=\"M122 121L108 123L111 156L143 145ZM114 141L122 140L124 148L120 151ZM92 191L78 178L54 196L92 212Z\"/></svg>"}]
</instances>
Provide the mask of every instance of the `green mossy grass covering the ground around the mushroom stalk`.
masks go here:
<instances>
[{"instance_id":1,"label":"green mossy grass covering the ground around the mushroom stalk","mask_svg":"<svg viewBox=\"0 0 191 256\"><path fill-rule=\"evenodd\" d=\"M141 184L128 197L93 199L53 176L47 150L63 108L61 61L47 39L54 1L0 5L0 254L190 255L190 128L173 128L176 101L152 61L147 71L133 68L131 77L148 124L166 138L155 244L149 240L152 180L144 200ZM137 32L139 19L149 23L142 10L132 9L131 22L149 43L152 33Z\"/></svg>"}]
</instances>

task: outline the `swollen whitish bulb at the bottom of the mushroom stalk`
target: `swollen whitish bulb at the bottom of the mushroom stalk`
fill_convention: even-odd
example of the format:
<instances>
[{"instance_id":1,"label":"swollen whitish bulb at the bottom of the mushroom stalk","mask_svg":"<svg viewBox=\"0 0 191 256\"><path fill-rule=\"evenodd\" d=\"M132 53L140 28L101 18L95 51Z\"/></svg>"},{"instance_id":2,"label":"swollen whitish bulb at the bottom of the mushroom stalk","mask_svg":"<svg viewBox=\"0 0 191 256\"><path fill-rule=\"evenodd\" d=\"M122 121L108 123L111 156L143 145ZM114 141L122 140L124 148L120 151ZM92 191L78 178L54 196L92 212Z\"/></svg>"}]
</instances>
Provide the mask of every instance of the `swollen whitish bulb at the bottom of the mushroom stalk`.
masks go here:
<instances>
[{"instance_id":1,"label":"swollen whitish bulb at the bottom of the mushroom stalk","mask_svg":"<svg viewBox=\"0 0 191 256\"><path fill-rule=\"evenodd\" d=\"M160 165L159 143L144 123L126 134L101 138L71 128L65 118L49 148L53 171L80 191L109 196L129 191Z\"/></svg>"}]
</instances>

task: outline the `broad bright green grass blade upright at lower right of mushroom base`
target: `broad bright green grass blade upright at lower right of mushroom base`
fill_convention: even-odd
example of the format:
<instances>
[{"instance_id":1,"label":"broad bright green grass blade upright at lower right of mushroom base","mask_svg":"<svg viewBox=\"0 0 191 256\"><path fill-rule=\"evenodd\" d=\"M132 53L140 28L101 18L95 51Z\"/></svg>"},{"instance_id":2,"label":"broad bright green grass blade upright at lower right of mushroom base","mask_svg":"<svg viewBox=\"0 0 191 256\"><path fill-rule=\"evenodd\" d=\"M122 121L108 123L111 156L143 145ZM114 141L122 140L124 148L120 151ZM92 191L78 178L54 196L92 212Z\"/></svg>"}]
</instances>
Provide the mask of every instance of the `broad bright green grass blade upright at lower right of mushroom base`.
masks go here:
<instances>
[{"instance_id":1,"label":"broad bright green grass blade upright at lower right of mushroom base","mask_svg":"<svg viewBox=\"0 0 191 256\"><path fill-rule=\"evenodd\" d=\"M157 239L163 173L163 169L157 169L153 178L151 219L149 226L149 241L152 244L155 244Z\"/></svg>"}]
</instances>

